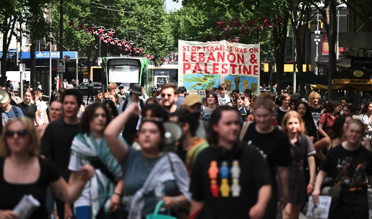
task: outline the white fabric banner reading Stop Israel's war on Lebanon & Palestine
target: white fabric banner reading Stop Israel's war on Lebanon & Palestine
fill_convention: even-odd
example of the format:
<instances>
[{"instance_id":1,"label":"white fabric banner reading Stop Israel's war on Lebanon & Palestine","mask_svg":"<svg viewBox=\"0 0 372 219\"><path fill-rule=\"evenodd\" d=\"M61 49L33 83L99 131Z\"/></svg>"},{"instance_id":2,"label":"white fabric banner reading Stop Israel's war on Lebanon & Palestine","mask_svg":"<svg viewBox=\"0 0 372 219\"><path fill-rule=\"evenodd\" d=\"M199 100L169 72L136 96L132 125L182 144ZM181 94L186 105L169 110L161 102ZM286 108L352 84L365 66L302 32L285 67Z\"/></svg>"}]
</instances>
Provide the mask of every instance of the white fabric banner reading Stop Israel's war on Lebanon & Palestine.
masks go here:
<instances>
[{"instance_id":1,"label":"white fabric banner reading Stop Israel's war on Lebanon & Palestine","mask_svg":"<svg viewBox=\"0 0 372 219\"><path fill-rule=\"evenodd\" d=\"M178 86L205 95L207 87L220 83L227 91L249 88L259 94L260 44L178 40Z\"/></svg>"}]
</instances>

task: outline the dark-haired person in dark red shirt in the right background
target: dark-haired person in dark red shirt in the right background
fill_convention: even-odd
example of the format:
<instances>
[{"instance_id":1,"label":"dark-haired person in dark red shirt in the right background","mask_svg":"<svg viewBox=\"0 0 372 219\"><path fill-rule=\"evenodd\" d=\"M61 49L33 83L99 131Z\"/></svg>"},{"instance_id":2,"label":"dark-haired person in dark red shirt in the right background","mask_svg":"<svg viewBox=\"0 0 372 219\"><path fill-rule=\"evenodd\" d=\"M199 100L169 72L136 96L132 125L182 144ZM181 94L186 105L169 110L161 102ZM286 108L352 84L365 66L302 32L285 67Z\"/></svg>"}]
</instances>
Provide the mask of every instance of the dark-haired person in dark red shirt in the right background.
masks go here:
<instances>
[{"instance_id":1,"label":"dark-haired person in dark red shirt in the right background","mask_svg":"<svg viewBox=\"0 0 372 219\"><path fill-rule=\"evenodd\" d=\"M322 114L319 119L319 134L320 138L328 136L331 128L337 118L337 113L339 112L339 103L336 100L331 100L326 105L326 112Z\"/></svg>"}]
</instances>

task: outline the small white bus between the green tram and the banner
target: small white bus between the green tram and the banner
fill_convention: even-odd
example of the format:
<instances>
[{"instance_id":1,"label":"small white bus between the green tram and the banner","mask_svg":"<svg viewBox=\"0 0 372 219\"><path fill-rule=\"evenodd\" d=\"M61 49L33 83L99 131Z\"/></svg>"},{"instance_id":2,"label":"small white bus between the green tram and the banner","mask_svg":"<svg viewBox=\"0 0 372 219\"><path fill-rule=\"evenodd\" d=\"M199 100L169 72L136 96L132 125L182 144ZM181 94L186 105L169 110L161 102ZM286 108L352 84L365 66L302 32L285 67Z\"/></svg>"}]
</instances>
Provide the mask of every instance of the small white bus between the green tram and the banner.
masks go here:
<instances>
[{"instance_id":1,"label":"small white bus between the green tram and the banner","mask_svg":"<svg viewBox=\"0 0 372 219\"><path fill-rule=\"evenodd\" d=\"M161 67L153 67L154 80L156 87L160 87L163 83L171 82L177 85L178 83L178 64L163 64Z\"/></svg>"}]
</instances>

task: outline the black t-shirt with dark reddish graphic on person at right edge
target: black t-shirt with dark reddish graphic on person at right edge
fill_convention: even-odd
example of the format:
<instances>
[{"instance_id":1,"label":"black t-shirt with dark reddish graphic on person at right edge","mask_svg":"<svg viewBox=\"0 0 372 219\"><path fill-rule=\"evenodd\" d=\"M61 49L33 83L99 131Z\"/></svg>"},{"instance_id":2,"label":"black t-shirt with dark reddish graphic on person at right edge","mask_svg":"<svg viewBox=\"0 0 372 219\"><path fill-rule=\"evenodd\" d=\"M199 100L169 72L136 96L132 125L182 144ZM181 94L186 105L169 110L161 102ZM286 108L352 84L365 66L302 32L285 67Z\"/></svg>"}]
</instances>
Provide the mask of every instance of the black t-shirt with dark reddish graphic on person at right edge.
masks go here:
<instances>
[{"instance_id":1,"label":"black t-shirt with dark reddish graphic on person at right edge","mask_svg":"<svg viewBox=\"0 0 372 219\"><path fill-rule=\"evenodd\" d=\"M326 160L321 169L334 179L341 182L349 191L367 188L365 176L372 175L372 153L364 147L351 151L342 144L331 148L327 152Z\"/></svg>"}]
</instances>

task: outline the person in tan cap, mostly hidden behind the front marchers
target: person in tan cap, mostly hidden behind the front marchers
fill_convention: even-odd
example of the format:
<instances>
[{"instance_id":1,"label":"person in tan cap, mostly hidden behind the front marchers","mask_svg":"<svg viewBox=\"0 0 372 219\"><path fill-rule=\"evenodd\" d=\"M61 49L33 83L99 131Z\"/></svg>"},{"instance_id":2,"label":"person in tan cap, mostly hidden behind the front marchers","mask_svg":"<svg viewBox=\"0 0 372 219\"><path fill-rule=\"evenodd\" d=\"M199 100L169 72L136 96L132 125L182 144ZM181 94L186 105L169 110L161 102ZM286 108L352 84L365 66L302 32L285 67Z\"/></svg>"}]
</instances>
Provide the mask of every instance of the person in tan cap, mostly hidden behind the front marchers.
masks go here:
<instances>
[{"instance_id":1,"label":"person in tan cap, mostly hidden behind the front marchers","mask_svg":"<svg viewBox=\"0 0 372 219\"><path fill-rule=\"evenodd\" d=\"M196 135L200 138L206 139L204 122L200 119L201 107L203 102L199 95L190 94L185 97L185 101L181 104L182 108L186 108L191 114L195 115L199 119L198 128L196 129Z\"/></svg>"}]
</instances>

